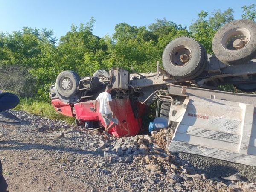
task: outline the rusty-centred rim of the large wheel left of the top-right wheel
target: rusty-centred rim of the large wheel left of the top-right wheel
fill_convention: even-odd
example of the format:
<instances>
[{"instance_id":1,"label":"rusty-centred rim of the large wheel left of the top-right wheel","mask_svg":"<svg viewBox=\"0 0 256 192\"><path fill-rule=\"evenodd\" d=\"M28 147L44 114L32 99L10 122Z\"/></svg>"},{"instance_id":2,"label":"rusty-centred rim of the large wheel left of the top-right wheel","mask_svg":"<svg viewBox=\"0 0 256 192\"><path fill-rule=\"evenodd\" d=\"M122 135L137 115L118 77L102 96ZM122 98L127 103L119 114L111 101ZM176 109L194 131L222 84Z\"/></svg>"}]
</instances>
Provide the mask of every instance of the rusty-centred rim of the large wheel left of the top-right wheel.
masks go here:
<instances>
[{"instance_id":1,"label":"rusty-centred rim of the large wheel left of the top-right wheel","mask_svg":"<svg viewBox=\"0 0 256 192\"><path fill-rule=\"evenodd\" d=\"M178 45L170 53L170 62L175 67L183 67L191 59L191 50L185 45Z\"/></svg>"}]
</instances>

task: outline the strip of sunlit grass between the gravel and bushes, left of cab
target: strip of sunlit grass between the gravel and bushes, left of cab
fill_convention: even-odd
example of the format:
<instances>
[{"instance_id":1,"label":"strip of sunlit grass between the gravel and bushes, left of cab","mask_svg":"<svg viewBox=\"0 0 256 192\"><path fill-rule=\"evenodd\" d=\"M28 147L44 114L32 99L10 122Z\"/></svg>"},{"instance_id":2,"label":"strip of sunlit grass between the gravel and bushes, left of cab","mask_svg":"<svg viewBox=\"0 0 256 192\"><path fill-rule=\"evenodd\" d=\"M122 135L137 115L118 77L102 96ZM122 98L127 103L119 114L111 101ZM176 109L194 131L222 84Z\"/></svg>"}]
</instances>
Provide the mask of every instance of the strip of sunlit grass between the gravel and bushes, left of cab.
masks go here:
<instances>
[{"instance_id":1,"label":"strip of sunlit grass between the gravel and bushes, left of cab","mask_svg":"<svg viewBox=\"0 0 256 192\"><path fill-rule=\"evenodd\" d=\"M28 113L32 113L35 115L40 115L42 117L47 117L49 119L54 120L63 120L67 123L73 124L75 122L75 118L64 116L55 111L54 107L49 102L38 101L32 98L29 99L20 99L20 104L14 108L15 110L23 110Z\"/></svg>"}]
</instances>

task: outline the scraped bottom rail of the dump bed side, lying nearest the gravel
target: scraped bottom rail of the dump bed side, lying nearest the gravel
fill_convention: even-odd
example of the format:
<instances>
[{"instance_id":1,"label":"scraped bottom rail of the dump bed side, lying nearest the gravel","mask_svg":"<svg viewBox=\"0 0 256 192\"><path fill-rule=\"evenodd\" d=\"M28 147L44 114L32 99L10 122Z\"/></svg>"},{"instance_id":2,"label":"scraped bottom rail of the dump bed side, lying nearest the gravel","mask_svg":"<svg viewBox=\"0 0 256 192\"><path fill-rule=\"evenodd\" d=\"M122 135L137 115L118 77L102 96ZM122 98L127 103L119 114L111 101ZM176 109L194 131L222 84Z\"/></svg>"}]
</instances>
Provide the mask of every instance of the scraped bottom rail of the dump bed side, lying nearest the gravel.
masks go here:
<instances>
[{"instance_id":1,"label":"scraped bottom rail of the dump bed side, lying nearest the gravel","mask_svg":"<svg viewBox=\"0 0 256 192\"><path fill-rule=\"evenodd\" d=\"M234 153L224 151L217 148L208 148L204 146L192 145L181 141L172 141L168 150L172 153L185 152L191 154L198 154L215 159L231 161L234 163L241 163L250 166L256 166L256 156Z\"/></svg>"}]
</instances>

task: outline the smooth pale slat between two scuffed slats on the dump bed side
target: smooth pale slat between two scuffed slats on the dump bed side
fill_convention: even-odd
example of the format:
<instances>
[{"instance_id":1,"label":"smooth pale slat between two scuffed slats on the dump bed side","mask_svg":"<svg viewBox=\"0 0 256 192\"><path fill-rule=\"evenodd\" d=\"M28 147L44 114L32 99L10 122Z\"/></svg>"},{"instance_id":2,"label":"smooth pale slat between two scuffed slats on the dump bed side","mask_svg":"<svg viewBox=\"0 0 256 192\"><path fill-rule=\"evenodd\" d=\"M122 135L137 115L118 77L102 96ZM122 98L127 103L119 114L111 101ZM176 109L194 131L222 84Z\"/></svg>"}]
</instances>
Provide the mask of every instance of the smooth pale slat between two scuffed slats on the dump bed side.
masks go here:
<instances>
[{"instance_id":1,"label":"smooth pale slat between two scuffed slats on the dump bed side","mask_svg":"<svg viewBox=\"0 0 256 192\"><path fill-rule=\"evenodd\" d=\"M202 145L205 147L209 148L218 148L226 151L233 151L233 152L238 152L239 151L239 144L236 143L229 143L229 142L224 142L220 140L213 140L213 139L208 139L204 137L197 137L193 135L188 135L188 134L181 134L181 133L175 133L175 136L173 138L173 141L182 141L182 142L187 142L189 144L193 145Z\"/></svg>"}]
</instances>

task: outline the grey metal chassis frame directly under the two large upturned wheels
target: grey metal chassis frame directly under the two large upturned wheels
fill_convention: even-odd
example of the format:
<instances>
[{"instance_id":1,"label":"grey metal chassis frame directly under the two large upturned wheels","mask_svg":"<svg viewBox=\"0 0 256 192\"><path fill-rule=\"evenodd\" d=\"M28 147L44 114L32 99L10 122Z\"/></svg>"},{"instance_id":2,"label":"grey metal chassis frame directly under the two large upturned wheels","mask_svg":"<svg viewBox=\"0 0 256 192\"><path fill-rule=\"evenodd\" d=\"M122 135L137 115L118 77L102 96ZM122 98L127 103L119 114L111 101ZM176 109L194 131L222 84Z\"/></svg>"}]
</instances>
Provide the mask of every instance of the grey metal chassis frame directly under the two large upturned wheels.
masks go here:
<instances>
[{"instance_id":1,"label":"grey metal chassis frame directly under the two large upturned wheels","mask_svg":"<svg viewBox=\"0 0 256 192\"><path fill-rule=\"evenodd\" d=\"M215 55L209 58L205 71L195 79L175 79L168 72L159 67L157 62L157 73L145 74L141 79L134 79L130 84L134 88L150 87L161 84L195 84L198 87L217 87L223 84L236 84L241 82L256 82L256 59L250 62L225 65L218 61Z\"/></svg>"}]
</instances>

